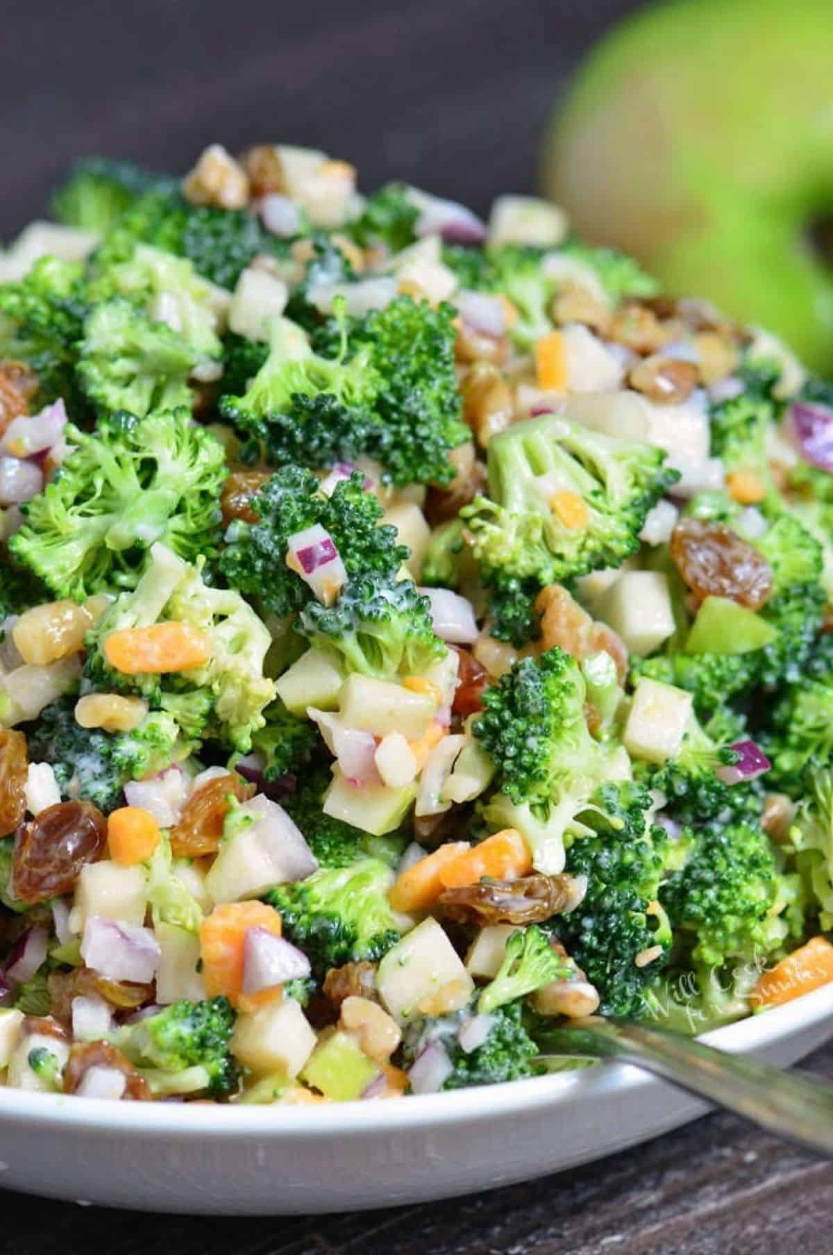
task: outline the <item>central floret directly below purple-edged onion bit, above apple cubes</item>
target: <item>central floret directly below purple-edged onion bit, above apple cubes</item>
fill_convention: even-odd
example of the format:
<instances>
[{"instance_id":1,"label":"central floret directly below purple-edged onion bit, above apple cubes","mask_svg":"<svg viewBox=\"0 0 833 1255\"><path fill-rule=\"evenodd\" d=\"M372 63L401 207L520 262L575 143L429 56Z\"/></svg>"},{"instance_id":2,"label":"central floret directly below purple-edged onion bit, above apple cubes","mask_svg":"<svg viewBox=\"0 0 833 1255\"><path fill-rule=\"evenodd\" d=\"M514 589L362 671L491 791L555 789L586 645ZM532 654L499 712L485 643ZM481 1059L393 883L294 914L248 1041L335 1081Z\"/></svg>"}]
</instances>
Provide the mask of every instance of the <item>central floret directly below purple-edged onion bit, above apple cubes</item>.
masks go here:
<instances>
[{"instance_id":1,"label":"central floret directly below purple-edged onion bit, above apple cubes","mask_svg":"<svg viewBox=\"0 0 833 1255\"><path fill-rule=\"evenodd\" d=\"M447 654L428 597L411 580L378 574L353 579L332 606L309 601L297 630L312 645L335 650L349 671L376 679L422 675Z\"/></svg>"}]
</instances>

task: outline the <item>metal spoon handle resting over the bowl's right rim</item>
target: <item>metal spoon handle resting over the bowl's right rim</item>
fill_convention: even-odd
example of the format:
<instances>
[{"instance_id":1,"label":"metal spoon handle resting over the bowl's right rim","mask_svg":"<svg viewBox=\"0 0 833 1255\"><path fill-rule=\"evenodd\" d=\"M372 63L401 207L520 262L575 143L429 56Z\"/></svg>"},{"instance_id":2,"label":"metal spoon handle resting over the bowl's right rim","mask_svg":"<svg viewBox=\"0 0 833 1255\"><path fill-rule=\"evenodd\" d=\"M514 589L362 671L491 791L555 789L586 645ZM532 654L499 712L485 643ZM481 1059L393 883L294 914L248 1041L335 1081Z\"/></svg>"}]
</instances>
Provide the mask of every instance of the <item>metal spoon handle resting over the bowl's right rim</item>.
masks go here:
<instances>
[{"instance_id":1,"label":"metal spoon handle resting over the bowl's right rim","mask_svg":"<svg viewBox=\"0 0 833 1255\"><path fill-rule=\"evenodd\" d=\"M593 1019L576 1028L553 1028L546 1043L556 1054L634 1063L770 1133L833 1155L833 1084L825 1081L623 1020Z\"/></svg>"}]
</instances>

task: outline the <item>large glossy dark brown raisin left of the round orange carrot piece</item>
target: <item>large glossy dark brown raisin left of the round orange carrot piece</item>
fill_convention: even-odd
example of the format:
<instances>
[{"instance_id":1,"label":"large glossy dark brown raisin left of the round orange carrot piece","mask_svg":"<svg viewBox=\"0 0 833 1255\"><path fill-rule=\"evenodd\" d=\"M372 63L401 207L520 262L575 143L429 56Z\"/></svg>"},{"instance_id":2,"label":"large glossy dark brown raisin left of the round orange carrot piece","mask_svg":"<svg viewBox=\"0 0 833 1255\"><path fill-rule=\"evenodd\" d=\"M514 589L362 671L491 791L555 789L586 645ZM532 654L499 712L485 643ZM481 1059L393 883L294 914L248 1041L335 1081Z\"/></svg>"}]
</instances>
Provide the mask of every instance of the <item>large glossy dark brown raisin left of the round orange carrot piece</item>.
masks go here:
<instances>
[{"instance_id":1,"label":"large glossy dark brown raisin left of the round orange carrot piece","mask_svg":"<svg viewBox=\"0 0 833 1255\"><path fill-rule=\"evenodd\" d=\"M15 896L45 902L72 894L79 872L100 855L107 820L92 802L56 802L18 833L11 858Z\"/></svg>"}]
</instances>

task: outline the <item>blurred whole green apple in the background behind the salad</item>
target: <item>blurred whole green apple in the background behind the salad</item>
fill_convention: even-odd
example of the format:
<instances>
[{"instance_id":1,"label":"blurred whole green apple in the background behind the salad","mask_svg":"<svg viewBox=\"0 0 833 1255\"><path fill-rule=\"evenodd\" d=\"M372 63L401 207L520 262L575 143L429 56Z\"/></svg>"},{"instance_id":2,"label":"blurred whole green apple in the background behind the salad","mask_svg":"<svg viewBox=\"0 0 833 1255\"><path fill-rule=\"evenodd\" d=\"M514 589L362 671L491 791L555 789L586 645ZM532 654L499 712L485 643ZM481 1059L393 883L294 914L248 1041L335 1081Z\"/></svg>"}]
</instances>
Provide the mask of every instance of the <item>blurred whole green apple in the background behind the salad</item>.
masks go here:
<instances>
[{"instance_id":1,"label":"blurred whole green apple in the background behind the salad","mask_svg":"<svg viewBox=\"0 0 833 1255\"><path fill-rule=\"evenodd\" d=\"M593 51L547 139L577 231L833 370L833 0L672 0Z\"/></svg>"}]
</instances>

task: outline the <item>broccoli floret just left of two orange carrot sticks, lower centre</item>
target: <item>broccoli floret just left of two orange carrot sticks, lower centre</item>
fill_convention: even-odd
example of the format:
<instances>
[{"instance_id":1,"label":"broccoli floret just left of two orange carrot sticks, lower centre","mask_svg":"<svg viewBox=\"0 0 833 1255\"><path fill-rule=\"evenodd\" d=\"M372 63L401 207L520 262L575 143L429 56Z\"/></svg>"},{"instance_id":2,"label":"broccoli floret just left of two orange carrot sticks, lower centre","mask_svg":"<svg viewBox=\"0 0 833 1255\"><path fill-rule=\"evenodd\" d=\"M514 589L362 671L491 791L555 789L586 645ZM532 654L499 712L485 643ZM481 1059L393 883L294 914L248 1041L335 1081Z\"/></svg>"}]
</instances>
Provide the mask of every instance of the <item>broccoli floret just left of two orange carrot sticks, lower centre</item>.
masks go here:
<instances>
[{"instance_id":1,"label":"broccoli floret just left of two orange carrot sticks, lower centre","mask_svg":"<svg viewBox=\"0 0 833 1255\"><path fill-rule=\"evenodd\" d=\"M322 976L345 963L381 959L396 944L399 929L388 902L393 881L379 858L361 858L277 885L266 900L280 911L286 936L304 950L314 975Z\"/></svg>"}]
</instances>

